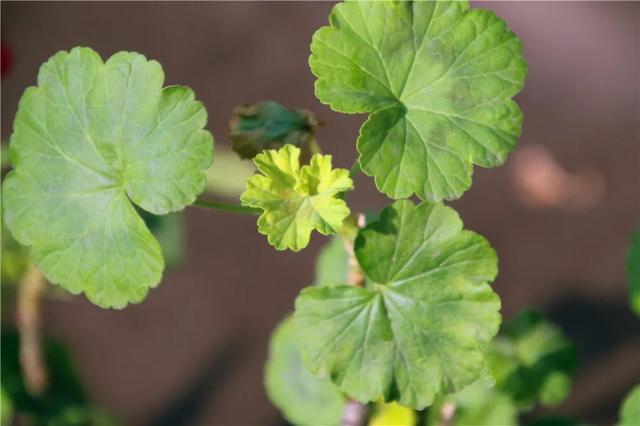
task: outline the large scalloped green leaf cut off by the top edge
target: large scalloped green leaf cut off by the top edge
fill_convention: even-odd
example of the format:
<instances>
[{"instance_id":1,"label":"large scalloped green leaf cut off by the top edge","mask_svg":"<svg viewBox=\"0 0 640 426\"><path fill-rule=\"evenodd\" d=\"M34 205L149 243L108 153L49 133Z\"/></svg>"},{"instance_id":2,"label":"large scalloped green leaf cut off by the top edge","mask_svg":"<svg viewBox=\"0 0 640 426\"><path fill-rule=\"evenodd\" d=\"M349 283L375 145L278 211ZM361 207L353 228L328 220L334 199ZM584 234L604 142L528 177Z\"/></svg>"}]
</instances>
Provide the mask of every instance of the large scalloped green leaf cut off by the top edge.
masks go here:
<instances>
[{"instance_id":1,"label":"large scalloped green leaf cut off by the top edge","mask_svg":"<svg viewBox=\"0 0 640 426\"><path fill-rule=\"evenodd\" d=\"M392 198L455 199L472 164L502 164L520 135L511 98L527 73L520 40L466 1L347 1L318 30L309 63L316 96L369 113L362 170Z\"/></svg>"}]
</instances>

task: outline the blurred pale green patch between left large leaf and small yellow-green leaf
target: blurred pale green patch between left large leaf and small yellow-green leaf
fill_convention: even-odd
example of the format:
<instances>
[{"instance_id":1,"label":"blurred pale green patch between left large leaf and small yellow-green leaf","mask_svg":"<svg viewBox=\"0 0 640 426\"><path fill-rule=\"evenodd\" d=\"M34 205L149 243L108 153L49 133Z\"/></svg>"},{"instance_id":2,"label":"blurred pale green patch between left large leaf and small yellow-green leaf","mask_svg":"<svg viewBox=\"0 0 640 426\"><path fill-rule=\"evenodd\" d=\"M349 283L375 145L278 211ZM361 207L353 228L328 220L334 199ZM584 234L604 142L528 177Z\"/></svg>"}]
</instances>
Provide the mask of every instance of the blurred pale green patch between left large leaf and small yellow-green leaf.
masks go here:
<instances>
[{"instance_id":1,"label":"blurred pale green patch between left large leaf and small yellow-green leaf","mask_svg":"<svg viewBox=\"0 0 640 426\"><path fill-rule=\"evenodd\" d=\"M243 161L230 149L216 147L216 158L206 171L206 191L221 197L237 199L246 189L247 179L256 173L250 161Z\"/></svg>"}]
</instances>

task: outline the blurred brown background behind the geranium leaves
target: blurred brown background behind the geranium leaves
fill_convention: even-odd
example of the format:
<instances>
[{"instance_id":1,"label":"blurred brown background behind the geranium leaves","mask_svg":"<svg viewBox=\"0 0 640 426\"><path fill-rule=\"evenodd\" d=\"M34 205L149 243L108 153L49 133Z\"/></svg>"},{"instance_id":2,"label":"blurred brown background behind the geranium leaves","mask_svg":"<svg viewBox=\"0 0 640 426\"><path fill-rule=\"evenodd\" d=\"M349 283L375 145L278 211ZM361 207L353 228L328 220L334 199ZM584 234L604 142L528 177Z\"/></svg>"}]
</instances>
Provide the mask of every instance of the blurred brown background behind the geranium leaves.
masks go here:
<instances>
[{"instance_id":1,"label":"blurred brown background behind the geranium leaves","mask_svg":"<svg viewBox=\"0 0 640 426\"><path fill-rule=\"evenodd\" d=\"M364 115L332 112L313 94L307 59L330 2L2 3L2 140L23 90L58 50L158 60L167 84L191 86L216 148L239 104L275 100L313 111L334 164L349 167ZM451 203L500 258L506 318L546 313L576 344L579 368L555 412L611 424L640 382L640 320L624 261L640 225L639 23L633 2L472 2L504 18L529 62L517 101L525 122L504 167L475 168ZM215 166L215 163L214 163ZM388 201L360 175L354 210ZM262 384L269 335L313 281L315 234L276 252L250 216L189 208L183 261L140 305L102 310L51 297L46 336L65 344L90 398L128 425L282 425ZM3 237L4 238L4 237ZM3 289L2 319L14 322Z\"/></svg>"}]
</instances>

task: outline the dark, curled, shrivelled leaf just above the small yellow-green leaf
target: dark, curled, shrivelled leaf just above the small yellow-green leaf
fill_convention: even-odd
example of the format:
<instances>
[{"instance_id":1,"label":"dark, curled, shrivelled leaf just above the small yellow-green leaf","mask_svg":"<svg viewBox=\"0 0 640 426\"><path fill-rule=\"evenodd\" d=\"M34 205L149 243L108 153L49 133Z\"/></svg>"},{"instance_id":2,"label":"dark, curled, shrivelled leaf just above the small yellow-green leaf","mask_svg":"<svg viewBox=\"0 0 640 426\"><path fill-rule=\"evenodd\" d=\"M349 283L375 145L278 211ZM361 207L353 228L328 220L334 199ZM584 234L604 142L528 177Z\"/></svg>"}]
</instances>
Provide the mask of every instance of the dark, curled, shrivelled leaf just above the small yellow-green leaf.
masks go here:
<instances>
[{"instance_id":1,"label":"dark, curled, shrivelled leaf just above the small yellow-green leaf","mask_svg":"<svg viewBox=\"0 0 640 426\"><path fill-rule=\"evenodd\" d=\"M252 159L267 149L290 144L300 148L306 163L315 149L318 126L310 111L264 101L237 107L229 121L229 135L233 150L241 158Z\"/></svg>"}]
</instances>

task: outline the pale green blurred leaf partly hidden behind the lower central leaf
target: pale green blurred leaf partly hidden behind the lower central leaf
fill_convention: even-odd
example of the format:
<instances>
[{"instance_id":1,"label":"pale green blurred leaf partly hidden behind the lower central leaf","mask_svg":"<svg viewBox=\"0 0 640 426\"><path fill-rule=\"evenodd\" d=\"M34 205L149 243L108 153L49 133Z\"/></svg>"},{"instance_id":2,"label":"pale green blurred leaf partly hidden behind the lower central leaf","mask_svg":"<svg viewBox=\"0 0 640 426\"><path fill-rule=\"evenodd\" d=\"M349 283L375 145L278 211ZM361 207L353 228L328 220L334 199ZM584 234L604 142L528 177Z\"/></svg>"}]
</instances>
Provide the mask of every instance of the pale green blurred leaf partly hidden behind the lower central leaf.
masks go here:
<instances>
[{"instance_id":1,"label":"pale green blurred leaf partly hidden behind the lower central leaf","mask_svg":"<svg viewBox=\"0 0 640 426\"><path fill-rule=\"evenodd\" d=\"M344 398L327 379L314 377L302 363L290 317L271 336L265 385L271 402L296 425L339 425Z\"/></svg>"}]
</instances>

